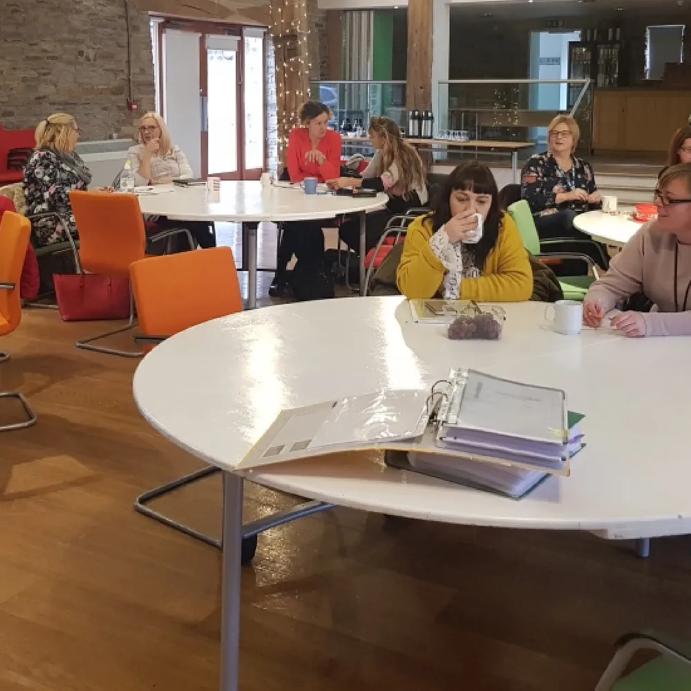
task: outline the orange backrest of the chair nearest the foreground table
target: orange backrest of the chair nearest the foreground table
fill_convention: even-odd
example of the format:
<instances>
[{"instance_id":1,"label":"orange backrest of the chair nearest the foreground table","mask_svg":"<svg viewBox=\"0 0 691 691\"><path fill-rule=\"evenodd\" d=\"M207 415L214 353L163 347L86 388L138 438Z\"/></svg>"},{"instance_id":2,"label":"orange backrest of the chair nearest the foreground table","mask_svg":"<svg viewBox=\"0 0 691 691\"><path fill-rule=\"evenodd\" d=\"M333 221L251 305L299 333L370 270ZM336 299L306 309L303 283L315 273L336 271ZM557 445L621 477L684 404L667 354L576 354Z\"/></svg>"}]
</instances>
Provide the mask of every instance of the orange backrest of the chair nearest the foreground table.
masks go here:
<instances>
[{"instance_id":1,"label":"orange backrest of the chair nearest the foreground table","mask_svg":"<svg viewBox=\"0 0 691 691\"><path fill-rule=\"evenodd\" d=\"M130 267L140 332L168 337L243 310L230 247L136 261Z\"/></svg>"}]
</instances>

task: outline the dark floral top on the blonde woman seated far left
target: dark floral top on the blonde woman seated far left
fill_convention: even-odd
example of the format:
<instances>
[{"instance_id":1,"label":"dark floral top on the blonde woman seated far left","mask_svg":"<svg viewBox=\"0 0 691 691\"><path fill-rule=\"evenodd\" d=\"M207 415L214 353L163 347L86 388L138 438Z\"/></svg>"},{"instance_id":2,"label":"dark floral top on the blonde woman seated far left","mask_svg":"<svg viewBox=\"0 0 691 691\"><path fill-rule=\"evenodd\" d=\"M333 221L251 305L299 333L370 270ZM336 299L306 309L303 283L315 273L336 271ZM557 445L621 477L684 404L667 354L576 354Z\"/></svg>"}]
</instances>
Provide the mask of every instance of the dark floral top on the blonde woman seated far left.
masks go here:
<instances>
[{"instance_id":1,"label":"dark floral top on the blonde woman seated far left","mask_svg":"<svg viewBox=\"0 0 691 691\"><path fill-rule=\"evenodd\" d=\"M77 238L77 223L70 205L70 191L86 189L91 173L78 153L73 161L50 149L38 149L32 153L24 169L24 197L26 215L59 214L73 238ZM38 247L64 243L67 238L63 225L54 216L32 221L32 234Z\"/></svg>"}]
</instances>

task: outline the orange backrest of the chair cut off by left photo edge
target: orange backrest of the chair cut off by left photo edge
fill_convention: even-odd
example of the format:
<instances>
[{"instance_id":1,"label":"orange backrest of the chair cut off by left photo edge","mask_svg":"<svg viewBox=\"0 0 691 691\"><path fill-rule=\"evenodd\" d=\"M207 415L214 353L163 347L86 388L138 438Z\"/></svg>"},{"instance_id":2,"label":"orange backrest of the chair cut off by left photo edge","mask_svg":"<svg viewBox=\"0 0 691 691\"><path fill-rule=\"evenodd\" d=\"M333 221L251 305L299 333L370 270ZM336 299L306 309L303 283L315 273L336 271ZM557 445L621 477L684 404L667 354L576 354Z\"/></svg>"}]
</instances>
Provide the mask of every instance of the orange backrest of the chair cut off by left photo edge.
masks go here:
<instances>
[{"instance_id":1,"label":"orange backrest of the chair cut off by left photo edge","mask_svg":"<svg viewBox=\"0 0 691 691\"><path fill-rule=\"evenodd\" d=\"M0 221L0 283L13 283L15 287L0 287L0 336L14 331L21 320L19 280L30 234L28 219L5 211Z\"/></svg>"}]
</instances>

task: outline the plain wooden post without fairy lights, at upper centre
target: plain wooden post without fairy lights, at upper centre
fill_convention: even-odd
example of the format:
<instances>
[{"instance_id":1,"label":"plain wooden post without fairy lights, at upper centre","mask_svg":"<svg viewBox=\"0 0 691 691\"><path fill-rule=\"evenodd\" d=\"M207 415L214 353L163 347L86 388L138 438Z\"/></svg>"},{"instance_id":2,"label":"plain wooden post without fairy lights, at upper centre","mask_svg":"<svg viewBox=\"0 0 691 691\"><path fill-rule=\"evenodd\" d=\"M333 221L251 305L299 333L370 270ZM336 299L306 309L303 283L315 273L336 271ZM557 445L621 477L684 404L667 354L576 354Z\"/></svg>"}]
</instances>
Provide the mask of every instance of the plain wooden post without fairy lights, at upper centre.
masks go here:
<instances>
[{"instance_id":1,"label":"plain wooden post without fairy lights, at upper centre","mask_svg":"<svg viewBox=\"0 0 691 691\"><path fill-rule=\"evenodd\" d=\"M432 108L433 0L408 0L409 111Z\"/></svg>"}]
</instances>

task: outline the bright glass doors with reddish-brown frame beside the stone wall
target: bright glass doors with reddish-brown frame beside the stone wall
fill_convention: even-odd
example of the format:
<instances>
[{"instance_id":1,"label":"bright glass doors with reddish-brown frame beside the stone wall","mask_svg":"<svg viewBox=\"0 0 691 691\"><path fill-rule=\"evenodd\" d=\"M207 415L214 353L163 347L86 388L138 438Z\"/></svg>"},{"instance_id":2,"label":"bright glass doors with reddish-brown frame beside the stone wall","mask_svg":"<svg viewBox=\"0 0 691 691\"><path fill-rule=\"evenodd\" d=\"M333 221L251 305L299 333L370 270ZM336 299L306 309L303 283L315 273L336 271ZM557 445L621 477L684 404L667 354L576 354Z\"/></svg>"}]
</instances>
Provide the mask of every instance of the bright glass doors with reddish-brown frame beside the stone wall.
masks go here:
<instances>
[{"instance_id":1,"label":"bright glass doors with reddish-brown frame beside the stone wall","mask_svg":"<svg viewBox=\"0 0 691 691\"><path fill-rule=\"evenodd\" d=\"M258 180L265 167L265 30L162 20L155 75L162 115L195 176Z\"/></svg>"}]
</instances>

